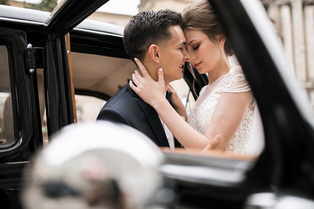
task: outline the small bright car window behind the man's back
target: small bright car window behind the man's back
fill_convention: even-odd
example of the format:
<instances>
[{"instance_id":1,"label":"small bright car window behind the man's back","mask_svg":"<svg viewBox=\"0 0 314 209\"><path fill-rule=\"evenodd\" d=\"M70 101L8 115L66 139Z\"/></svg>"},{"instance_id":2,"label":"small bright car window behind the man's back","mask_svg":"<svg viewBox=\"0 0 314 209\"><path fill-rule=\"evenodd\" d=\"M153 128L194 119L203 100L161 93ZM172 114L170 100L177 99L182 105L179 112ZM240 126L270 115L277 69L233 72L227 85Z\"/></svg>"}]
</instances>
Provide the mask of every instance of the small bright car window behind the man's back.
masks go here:
<instances>
[{"instance_id":1,"label":"small bright car window behind the man's back","mask_svg":"<svg viewBox=\"0 0 314 209\"><path fill-rule=\"evenodd\" d=\"M77 122L95 122L106 101L92 96L75 95Z\"/></svg>"}]
</instances>

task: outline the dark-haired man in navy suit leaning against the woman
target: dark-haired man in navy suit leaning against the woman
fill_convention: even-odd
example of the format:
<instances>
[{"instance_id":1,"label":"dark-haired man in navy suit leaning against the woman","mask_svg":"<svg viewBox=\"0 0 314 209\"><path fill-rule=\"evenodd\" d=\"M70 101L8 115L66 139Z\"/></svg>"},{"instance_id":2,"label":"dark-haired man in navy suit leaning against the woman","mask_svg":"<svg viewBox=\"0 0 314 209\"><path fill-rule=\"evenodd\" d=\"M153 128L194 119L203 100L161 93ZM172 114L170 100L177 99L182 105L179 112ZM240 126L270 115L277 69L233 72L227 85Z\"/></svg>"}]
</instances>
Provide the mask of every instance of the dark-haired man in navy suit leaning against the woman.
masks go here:
<instances>
[{"instance_id":1,"label":"dark-haired man in navy suit leaning against the woman","mask_svg":"<svg viewBox=\"0 0 314 209\"><path fill-rule=\"evenodd\" d=\"M170 10L140 12L131 18L124 29L123 45L134 61L138 58L154 80L157 70L164 69L166 85L183 77L189 54L180 27L180 13ZM137 69L139 71L139 69ZM97 120L111 120L129 125L162 147L181 147L158 113L127 84L111 97L101 109Z\"/></svg>"}]
</instances>

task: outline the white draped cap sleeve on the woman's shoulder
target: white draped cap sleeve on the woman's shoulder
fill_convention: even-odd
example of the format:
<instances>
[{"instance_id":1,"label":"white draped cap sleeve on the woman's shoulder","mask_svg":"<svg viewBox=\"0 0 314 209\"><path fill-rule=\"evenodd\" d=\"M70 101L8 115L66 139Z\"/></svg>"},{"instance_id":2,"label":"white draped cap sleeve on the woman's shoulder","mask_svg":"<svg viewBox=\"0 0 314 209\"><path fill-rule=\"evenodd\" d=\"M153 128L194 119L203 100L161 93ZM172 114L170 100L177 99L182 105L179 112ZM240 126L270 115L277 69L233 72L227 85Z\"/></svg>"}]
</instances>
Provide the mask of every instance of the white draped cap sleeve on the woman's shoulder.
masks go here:
<instances>
[{"instance_id":1,"label":"white draped cap sleeve on the woman's shoulder","mask_svg":"<svg viewBox=\"0 0 314 209\"><path fill-rule=\"evenodd\" d=\"M232 68L224 82L222 92L247 92L251 91L251 87L246 81L240 66Z\"/></svg>"}]
</instances>

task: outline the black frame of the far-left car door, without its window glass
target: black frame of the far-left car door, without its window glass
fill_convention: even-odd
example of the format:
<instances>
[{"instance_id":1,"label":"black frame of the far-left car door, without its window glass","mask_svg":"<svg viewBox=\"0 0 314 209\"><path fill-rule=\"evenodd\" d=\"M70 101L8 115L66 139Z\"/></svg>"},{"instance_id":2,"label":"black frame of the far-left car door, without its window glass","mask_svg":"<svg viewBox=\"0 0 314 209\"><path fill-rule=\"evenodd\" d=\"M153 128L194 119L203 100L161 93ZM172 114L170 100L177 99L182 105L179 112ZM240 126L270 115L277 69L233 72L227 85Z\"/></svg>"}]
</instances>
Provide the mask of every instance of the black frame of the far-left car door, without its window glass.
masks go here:
<instances>
[{"instance_id":1,"label":"black frame of the far-left car door, without its window glass","mask_svg":"<svg viewBox=\"0 0 314 209\"><path fill-rule=\"evenodd\" d=\"M40 107L36 69L30 73L26 62L27 26L10 19L2 23L0 42L8 49L15 140L0 146L0 196L4 207L19 207L22 170L43 147Z\"/></svg>"}]
</instances>

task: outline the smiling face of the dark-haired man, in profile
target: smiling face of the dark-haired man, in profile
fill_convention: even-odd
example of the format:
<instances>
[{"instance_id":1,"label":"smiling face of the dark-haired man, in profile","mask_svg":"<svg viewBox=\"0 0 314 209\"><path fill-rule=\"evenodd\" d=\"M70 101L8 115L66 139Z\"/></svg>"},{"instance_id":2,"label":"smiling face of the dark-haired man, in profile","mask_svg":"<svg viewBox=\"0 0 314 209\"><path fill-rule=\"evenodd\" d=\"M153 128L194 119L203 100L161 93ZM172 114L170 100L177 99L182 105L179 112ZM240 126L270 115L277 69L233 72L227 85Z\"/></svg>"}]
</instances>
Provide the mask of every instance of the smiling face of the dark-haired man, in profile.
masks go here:
<instances>
[{"instance_id":1,"label":"smiling face of the dark-haired man, in profile","mask_svg":"<svg viewBox=\"0 0 314 209\"><path fill-rule=\"evenodd\" d=\"M190 59L181 27L171 26L169 31L172 38L161 45L160 54L160 65L164 70L166 84L183 77L184 62Z\"/></svg>"}]
</instances>

